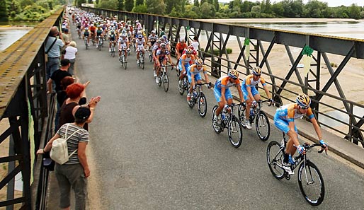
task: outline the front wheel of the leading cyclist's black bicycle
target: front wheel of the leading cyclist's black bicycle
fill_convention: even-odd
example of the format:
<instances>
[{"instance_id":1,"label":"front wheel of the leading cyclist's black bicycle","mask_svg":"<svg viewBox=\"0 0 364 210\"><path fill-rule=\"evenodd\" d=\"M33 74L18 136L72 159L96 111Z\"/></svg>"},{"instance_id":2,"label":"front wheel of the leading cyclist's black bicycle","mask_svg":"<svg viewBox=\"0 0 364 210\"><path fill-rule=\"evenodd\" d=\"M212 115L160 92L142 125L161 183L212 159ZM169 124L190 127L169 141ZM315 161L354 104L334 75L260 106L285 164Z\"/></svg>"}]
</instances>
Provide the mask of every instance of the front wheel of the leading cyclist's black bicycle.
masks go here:
<instances>
[{"instance_id":1,"label":"front wheel of the leading cyclist's black bicycle","mask_svg":"<svg viewBox=\"0 0 364 210\"><path fill-rule=\"evenodd\" d=\"M311 161L301 163L298 170L298 185L300 185L300 190L306 202L312 206L318 206L324 201L324 179L319 168Z\"/></svg>"}]
</instances>

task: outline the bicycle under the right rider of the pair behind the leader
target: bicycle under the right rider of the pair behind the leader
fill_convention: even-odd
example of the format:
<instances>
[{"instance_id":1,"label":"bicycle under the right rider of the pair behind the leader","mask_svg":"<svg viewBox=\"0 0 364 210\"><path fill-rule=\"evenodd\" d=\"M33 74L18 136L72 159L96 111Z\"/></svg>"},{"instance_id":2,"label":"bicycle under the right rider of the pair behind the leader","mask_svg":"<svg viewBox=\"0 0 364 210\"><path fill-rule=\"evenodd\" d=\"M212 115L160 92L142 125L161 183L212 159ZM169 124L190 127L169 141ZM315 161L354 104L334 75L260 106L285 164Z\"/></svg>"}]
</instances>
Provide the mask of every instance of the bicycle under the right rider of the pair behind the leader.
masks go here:
<instances>
[{"instance_id":1,"label":"bicycle under the right rider of the pair behind the leader","mask_svg":"<svg viewBox=\"0 0 364 210\"><path fill-rule=\"evenodd\" d=\"M263 107L263 103L266 102L271 103L270 100L258 100L256 102L258 104L256 109L254 109L254 105L251 105L250 108L249 122L252 124L255 119L256 134L258 134L259 139L261 139L261 141L267 141L269 139L269 135L271 134L271 124L269 124L269 119L266 115L266 112L263 112L261 110L261 107ZM271 106L271 104L268 106ZM245 113L246 113L246 107L239 106L238 115L241 124L243 124L243 127L245 127L244 126L246 120Z\"/></svg>"}]
</instances>

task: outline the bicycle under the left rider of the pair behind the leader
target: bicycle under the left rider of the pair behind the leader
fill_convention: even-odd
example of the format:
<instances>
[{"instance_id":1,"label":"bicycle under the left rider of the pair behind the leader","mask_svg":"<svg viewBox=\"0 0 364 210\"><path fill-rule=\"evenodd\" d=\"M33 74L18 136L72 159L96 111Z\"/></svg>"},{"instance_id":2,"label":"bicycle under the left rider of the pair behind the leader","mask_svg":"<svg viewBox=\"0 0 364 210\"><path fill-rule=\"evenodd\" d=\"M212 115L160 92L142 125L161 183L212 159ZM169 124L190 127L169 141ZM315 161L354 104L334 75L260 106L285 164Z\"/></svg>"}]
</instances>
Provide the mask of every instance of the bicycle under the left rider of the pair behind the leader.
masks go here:
<instances>
[{"instance_id":1,"label":"bicycle under the left rider of the pair behind the leader","mask_svg":"<svg viewBox=\"0 0 364 210\"><path fill-rule=\"evenodd\" d=\"M238 117L234 115L234 107L239 106L239 104L232 103L231 105L227 105L230 109L230 112L223 109L220 112L221 120L214 120L215 111L217 110L218 105L212 108L211 119L212 119L212 128L217 134L220 134L224 131L224 128L227 128L227 134L229 136L229 141L235 148L241 146L241 142L243 141L243 125L241 124ZM237 134L237 136L235 136ZM233 136L234 135L234 136Z\"/></svg>"}]
</instances>

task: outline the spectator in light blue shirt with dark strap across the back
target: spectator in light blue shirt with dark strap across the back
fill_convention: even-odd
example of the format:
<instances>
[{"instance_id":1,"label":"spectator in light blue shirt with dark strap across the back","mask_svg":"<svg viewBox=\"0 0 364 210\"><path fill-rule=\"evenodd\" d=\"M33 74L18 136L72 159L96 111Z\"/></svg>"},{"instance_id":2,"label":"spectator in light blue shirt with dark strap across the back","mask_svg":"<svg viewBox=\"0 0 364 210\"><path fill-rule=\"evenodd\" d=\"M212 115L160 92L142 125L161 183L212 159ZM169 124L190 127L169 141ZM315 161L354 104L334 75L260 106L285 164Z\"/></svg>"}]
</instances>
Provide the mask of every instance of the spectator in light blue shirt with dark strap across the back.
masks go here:
<instances>
[{"instance_id":1,"label":"spectator in light blue shirt with dark strap across the back","mask_svg":"<svg viewBox=\"0 0 364 210\"><path fill-rule=\"evenodd\" d=\"M57 38L57 35L59 35L59 39ZM59 33L56 26L53 26L50 28L50 34L48 35L47 41L45 42L45 52L47 52L48 55L48 61L45 66L45 79L47 81L53 72L59 69L59 57L61 56L62 47L64 47L63 35L62 33Z\"/></svg>"}]
</instances>

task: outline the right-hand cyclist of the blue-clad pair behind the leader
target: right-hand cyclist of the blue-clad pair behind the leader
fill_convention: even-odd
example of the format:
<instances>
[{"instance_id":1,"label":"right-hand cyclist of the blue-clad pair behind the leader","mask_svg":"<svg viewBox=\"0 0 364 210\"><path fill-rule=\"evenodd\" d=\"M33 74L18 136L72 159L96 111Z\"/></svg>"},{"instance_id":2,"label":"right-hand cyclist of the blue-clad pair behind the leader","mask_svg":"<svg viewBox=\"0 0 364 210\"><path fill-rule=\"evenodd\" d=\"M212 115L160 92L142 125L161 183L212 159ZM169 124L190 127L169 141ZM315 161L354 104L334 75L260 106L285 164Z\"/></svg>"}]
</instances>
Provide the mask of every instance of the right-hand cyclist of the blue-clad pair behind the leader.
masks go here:
<instances>
[{"instance_id":1,"label":"right-hand cyclist of the blue-clad pair behind the leader","mask_svg":"<svg viewBox=\"0 0 364 210\"><path fill-rule=\"evenodd\" d=\"M244 100L246 102L246 121L242 123L247 129L251 129L251 124L249 122L250 107L252 104L254 105L254 107L256 107L258 105L256 101L261 100L261 95L259 94L259 91L256 90L256 86L258 86L258 83L261 83L261 85L263 86L264 91L266 91L267 97L271 98L271 93L269 93L268 87L266 86L266 81L264 80L264 78L261 77L261 68L256 66L251 72L252 74L246 76L241 84L241 91L243 91ZM271 103L273 103L273 99L270 100Z\"/></svg>"}]
</instances>

